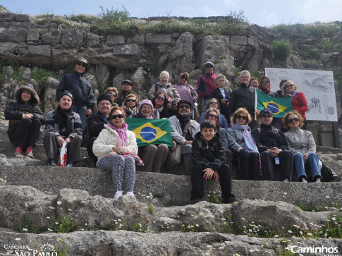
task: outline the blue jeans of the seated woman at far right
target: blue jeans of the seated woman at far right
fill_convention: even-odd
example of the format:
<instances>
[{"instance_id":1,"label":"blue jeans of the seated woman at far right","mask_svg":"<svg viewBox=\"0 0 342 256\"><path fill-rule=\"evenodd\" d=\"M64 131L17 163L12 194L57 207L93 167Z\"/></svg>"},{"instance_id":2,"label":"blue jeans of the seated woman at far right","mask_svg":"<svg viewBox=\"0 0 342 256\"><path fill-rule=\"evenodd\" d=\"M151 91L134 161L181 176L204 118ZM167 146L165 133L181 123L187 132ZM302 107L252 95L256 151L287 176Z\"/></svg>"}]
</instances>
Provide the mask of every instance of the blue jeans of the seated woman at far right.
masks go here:
<instances>
[{"instance_id":1,"label":"blue jeans of the seated woman at far right","mask_svg":"<svg viewBox=\"0 0 342 256\"><path fill-rule=\"evenodd\" d=\"M319 169L319 159L317 154L313 152L309 153L307 156L307 160L310 164L312 179L317 176L321 178L321 170ZM293 154L293 161L295 162L295 169L297 170L298 178L300 178L300 176L305 176L305 178L307 178L307 175L305 173L305 159L303 154L299 152Z\"/></svg>"}]
</instances>

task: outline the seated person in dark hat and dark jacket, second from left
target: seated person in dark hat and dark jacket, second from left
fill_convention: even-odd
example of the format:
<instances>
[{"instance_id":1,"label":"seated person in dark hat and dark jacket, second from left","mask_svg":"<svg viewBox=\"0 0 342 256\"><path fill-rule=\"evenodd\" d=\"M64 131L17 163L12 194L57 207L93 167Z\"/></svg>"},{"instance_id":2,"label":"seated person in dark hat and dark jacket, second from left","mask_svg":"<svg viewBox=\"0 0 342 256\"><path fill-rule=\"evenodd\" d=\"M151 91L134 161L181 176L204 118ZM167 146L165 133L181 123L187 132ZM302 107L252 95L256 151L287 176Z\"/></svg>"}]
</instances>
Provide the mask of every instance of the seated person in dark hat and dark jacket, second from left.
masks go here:
<instances>
[{"instance_id":1,"label":"seated person in dark hat and dark jacket, second from left","mask_svg":"<svg viewBox=\"0 0 342 256\"><path fill-rule=\"evenodd\" d=\"M82 142L82 123L80 116L71 110L73 95L64 91L59 98L57 109L47 114L47 124L44 133L44 149L47 152L49 166L57 166L59 160L59 147L66 142L67 167L80 161L80 146Z\"/></svg>"}]
</instances>

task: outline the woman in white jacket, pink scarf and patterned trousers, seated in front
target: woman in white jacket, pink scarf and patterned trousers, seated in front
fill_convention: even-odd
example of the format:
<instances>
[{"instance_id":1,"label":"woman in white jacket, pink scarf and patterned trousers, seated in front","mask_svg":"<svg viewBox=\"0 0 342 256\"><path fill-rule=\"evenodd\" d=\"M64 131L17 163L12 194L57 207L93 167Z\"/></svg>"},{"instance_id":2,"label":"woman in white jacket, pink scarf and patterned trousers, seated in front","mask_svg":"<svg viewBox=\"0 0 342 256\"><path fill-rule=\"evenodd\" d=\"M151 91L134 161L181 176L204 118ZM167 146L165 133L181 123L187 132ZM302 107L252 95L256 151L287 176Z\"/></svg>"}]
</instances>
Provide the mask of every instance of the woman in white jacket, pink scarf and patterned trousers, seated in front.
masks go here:
<instances>
[{"instance_id":1,"label":"woman in white jacket, pink scarf and patterned trousers, seated in front","mask_svg":"<svg viewBox=\"0 0 342 256\"><path fill-rule=\"evenodd\" d=\"M135 133L128 130L126 114L121 107L114 106L109 112L109 122L94 141L92 150L99 158L97 168L111 171L115 189L114 199L122 196L123 180L126 183L126 195L134 196L135 159L138 146Z\"/></svg>"}]
</instances>

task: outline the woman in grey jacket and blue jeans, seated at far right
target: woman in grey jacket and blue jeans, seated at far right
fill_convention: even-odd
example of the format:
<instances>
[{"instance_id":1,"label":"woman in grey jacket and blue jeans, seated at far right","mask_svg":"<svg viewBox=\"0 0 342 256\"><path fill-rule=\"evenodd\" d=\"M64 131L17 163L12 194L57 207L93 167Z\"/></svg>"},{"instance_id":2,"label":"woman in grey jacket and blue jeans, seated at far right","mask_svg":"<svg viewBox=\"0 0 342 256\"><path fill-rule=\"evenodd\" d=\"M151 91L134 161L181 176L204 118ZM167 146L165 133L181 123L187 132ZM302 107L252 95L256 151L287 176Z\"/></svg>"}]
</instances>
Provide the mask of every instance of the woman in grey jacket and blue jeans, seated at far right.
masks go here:
<instances>
[{"instance_id":1,"label":"woman in grey jacket and blue jeans, seated at far right","mask_svg":"<svg viewBox=\"0 0 342 256\"><path fill-rule=\"evenodd\" d=\"M303 130L303 117L298 111L290 111L283 116L283 124L288 132L284 133L288 142L288 150L293 154L293 162L297 170L298 181L307 183L305 164L310 164L312 181L321 182L321 170L316 154L316 143L309 130Z\"/></svg>"}]
</instances>

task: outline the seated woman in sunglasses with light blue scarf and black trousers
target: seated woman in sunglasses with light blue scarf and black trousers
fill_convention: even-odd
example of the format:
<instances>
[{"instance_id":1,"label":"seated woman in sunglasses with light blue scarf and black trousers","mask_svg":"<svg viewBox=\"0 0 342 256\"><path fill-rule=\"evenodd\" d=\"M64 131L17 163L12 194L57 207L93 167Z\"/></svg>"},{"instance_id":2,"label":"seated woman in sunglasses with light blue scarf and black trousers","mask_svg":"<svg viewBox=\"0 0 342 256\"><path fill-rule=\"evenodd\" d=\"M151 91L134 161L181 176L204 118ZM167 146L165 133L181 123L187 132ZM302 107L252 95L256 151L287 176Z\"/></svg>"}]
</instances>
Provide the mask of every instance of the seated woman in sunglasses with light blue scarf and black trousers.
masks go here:
<instances>
[{"instance_id":1,"label":"seated woman in sunglasses with light blue scarf and black trousers","mask_svg":"<svg viewBox=\"0 0 342 256\"><path fill-rule=\"evenodd\" d=\"M233 114L233 126L228 129L229 147L233 152L233 164L238 164L240 178L257 181L260 171L260 157L257 145L250 134L250 114L245 108L238 108Z\"/></svg>"}]
</instances>

